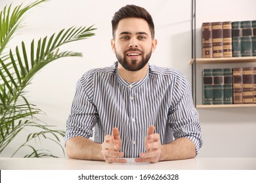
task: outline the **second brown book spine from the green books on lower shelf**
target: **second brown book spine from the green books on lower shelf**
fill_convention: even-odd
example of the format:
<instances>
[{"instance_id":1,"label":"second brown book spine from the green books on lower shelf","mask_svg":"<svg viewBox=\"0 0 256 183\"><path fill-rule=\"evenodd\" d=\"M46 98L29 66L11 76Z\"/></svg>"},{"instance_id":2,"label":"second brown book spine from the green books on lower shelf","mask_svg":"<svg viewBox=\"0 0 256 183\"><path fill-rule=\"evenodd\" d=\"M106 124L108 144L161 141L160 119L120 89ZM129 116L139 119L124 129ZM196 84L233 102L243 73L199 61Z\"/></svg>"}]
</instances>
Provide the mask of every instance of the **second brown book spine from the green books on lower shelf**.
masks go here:
<instances>
[{"instance_id":1,"label":"second brown book spine from the green books on lower shelf","mask_svg":"<svg viewBox=\"0 0 256 183\"><path fill-rule=\"evenodd\" d=\"M243 68L243 103L253 103L253 67Z\"/></svg>"}]
</instances>

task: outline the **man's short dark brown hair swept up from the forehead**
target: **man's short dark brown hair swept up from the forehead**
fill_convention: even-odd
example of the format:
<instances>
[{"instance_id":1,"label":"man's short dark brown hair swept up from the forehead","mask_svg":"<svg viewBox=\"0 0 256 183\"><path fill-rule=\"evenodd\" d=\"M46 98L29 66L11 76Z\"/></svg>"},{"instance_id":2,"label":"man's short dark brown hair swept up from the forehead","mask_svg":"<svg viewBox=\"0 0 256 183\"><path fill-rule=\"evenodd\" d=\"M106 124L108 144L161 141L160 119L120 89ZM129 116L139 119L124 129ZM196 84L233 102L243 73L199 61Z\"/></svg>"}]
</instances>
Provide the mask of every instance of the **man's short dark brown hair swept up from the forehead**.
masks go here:
<instances>
[{"instance_id":1,"label":"man's short dark brown hair swept up from the forehead","mask_svg":"<svg viewBox=\"0 0 256 183\"><path fill-rule=\"evenodd\" d=\"M123 18L142 18L148 22L148 26L150 28L150 33L152 35L152 39L155 36L155 28L154 22L152 20L151 15L145 8L138 7L136 5L126 5L125 7L121 7L113 16L112 19L112 35L115 38L117 25L119 21Z\"/></svg>"}]
</instances>

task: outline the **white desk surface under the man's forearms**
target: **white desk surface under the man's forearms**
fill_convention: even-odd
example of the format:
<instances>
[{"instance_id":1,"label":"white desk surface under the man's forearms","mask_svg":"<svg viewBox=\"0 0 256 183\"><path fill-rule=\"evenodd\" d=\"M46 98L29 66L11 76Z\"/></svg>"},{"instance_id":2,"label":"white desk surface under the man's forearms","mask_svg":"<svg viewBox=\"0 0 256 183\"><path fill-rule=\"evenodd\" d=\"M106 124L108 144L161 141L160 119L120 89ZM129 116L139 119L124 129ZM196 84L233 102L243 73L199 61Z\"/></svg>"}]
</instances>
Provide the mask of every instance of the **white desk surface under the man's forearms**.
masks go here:
<instances>
[{"instance_id":1,"label":"white desk surface under the man's forearms","mask_svg":"<svg viewBox=\"0 0 256 183\"><path fill-rule=\"evenodd\" d=\"M1 170L256 170L256 158L193 158L158 163L136 163L128 158L126 164L87 161L70 158L0 158Z\"/></svg>"}]
</instances>

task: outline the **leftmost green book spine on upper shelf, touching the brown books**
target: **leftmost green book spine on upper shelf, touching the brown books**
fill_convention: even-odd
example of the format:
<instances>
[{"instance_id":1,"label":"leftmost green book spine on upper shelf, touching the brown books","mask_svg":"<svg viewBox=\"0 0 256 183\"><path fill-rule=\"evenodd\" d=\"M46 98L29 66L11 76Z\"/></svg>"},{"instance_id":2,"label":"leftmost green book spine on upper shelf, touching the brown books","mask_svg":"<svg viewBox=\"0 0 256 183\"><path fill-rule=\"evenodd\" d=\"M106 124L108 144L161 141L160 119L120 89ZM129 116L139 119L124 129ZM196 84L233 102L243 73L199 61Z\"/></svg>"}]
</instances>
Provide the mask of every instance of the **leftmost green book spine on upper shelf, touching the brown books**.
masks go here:
<instances>
[{"instance_id":1,"label":"leftmost green book spine on upper shelf, touching the brown books","mask_svg":"<svg viewBox=\"0 0 256 183\"><path fill-rule=\"evenodd\" d=\"M232 22L232 56L241 56L241 27L240 22Z\"/></svg>"}]
</instances>

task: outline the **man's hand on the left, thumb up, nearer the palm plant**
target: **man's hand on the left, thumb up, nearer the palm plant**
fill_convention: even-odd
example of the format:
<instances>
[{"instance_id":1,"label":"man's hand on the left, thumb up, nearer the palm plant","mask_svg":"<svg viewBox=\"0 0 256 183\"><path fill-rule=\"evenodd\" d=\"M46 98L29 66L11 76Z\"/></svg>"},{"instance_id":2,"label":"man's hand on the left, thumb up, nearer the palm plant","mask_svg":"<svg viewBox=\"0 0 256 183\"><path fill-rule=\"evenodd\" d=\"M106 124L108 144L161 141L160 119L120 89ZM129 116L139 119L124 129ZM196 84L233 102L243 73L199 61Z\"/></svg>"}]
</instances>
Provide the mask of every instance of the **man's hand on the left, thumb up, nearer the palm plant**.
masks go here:
<instances>
[{"instance_id":1,"label":"man's hand on the left, thumb up, nearer the palm plant","mask_svg":"<svg viewBox=\"0 0 256 183\"><path fill-rule=\"evenodd\" d=\"M117 127L113 128L113 135L105 135L104 142L101 146L101 153L104 156L106 162L126 163L126 159L119 158L123 157L123 152L119 152L121 149L121 139Z\"/></svg>"}]
</instances>

